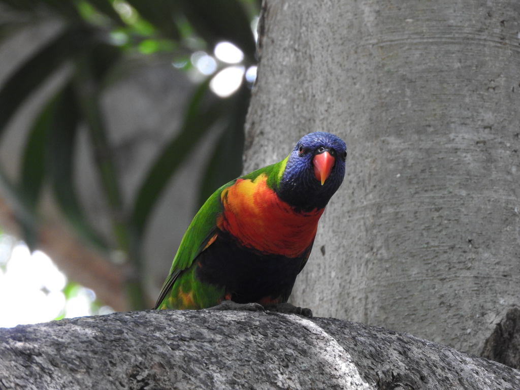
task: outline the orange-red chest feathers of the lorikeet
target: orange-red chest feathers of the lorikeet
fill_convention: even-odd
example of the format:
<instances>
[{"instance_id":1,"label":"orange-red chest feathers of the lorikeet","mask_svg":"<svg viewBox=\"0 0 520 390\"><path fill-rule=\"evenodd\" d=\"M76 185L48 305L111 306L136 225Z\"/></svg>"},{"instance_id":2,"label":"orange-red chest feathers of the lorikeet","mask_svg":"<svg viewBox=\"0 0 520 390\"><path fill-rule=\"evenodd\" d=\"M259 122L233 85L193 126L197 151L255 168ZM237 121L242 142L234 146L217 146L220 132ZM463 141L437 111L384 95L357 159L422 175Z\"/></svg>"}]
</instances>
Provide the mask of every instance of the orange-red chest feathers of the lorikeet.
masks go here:
<instances>
[{"instance_id":1,"label":"orange-red chest feathers of the lorikeet","mask_svg":"<svg viewBox=\"0 0 520 390\"><path fill-rule=\"evenodd\" d=\"M254 181L238 179L222 191L224 212L217 226L246 248L298 257L313 242L324 209L295 212L267 186L266 179L264 174Z\"/></svg>"}]
</instances>

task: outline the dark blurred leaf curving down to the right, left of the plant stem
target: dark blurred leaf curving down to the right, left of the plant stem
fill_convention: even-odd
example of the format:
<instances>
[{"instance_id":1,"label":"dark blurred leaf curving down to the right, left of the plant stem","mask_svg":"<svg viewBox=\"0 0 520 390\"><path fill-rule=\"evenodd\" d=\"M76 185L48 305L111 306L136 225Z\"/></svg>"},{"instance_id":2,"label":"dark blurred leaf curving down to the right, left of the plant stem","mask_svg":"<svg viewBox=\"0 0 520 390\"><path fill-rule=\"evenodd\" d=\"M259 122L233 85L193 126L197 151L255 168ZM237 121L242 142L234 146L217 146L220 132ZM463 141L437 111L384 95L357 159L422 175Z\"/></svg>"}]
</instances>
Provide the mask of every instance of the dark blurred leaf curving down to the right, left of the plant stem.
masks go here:
<instances>
[{"instance_id":1,"label":"dark blurred leaf curving down to the right, left of the plant stem","mask_svg":"<svg viewBox=\"0 0 520 390\"><path fill-rule=\"evenodd\" d=\"M56 200L63 214L83 237L106 249L105 241L87 222L74 188L73 155L80 111L72 85L64 87L51 104L54 105L54 115L48 129L47 164Z\"/></svg>"}]
</instances>

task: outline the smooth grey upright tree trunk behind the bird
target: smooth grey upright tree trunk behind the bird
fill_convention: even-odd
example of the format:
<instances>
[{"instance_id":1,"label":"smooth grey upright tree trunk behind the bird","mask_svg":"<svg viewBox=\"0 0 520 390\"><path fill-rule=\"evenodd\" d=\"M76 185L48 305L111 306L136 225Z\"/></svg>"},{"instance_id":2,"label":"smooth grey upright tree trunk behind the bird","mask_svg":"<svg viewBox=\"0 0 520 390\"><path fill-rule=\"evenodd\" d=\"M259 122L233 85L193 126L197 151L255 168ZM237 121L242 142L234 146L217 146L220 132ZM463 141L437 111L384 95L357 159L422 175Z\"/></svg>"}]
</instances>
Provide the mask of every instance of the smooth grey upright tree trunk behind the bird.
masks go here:
<instances>
[{"instance_id":1,"label":"smooth grey upright tree trunk behind the bird","mask_svg":"<svg viewBox=\"0 0 520 390\"><path fill-rule=\"evenodd\" d=\"M349 152L294 302L479 354L520 304L520 2L267 0L263 21L245 171L318 130Z\"/></svg>"}]
</instances>

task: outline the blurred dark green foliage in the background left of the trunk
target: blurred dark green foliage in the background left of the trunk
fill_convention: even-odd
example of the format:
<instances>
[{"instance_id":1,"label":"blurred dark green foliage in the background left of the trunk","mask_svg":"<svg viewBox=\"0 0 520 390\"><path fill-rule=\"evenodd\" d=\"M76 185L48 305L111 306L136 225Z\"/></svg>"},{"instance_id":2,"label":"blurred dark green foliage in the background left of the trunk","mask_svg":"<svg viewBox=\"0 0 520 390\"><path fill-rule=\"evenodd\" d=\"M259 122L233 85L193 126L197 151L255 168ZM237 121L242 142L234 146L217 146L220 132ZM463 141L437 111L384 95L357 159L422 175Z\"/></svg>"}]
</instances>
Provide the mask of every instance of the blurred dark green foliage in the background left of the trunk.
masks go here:
<instances>
[{"instance_id":1,"label":"blurred dark green foliage in the background left of the trunk","mask_svg":"<svg viewBox=\"0 0 520 390\"><path fill-rule=\"evenodd\" d=\"M0 141L7 124L27 98L50 76L68 64L68 80L43 105L32 123L21 156L15 183L0 166L0 181L15 201L15 213L25 240L37 244L38 201L44 184L53 189L63 215L89 242L104 250L126 253L134 273L128 279L133 307L145 307L140 242L153 207L168 180L185 157L209 134L216 123L223 130L203 175L199 202L241 171L243 124L250 90L244 81L227 98L212 98L211 75L190 98L184 123L157 156L134 199L124 207L120 177L115 169L107 128L100 111L100 95L113 83L113 70L135 56L170 56L172 63L189 70L188 60L197 50L213 51L228 41L244 53L245 68L255 64L251 20L259 0L0 0L0 43L20 29L42 20L58 19L61 29L54 38L12 72L0 89ZM8 15L9 17L6 17ZM106 201L112 215L116 248L90 226L74 187L72 162L80 124L86 125L93 144ZM94 153L94 150L92 153ZM223 157L226 157L223 161Z\"/></svg>"}]
</instances>

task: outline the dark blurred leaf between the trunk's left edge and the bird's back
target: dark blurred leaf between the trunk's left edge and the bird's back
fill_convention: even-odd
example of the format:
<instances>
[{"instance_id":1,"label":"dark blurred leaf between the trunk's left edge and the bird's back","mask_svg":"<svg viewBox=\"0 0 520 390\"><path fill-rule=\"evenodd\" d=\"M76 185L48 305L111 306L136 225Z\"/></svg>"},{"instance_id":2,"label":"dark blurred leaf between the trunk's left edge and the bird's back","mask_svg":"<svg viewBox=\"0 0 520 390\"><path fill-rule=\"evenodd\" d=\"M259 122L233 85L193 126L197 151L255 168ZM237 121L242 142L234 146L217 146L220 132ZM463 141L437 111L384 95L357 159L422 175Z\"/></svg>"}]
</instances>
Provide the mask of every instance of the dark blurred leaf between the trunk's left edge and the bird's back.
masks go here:
<instances>
[{"instance_id":1,"label":"dark blurred leaf between the trunk's left edge and the bird's back","mask_svg":"<svg viewBox=\"0 0 520 390\"><path fill-rule=\"evenodd\" d=\"M237 93L226 99L227 124L202 176L197 210L218 187L240 176L244 152L244 123L250 96L249 88L242 84Z\"/></svg>"}]
</instances>

